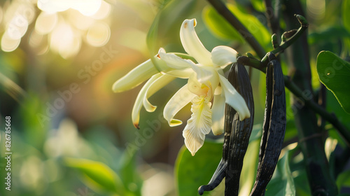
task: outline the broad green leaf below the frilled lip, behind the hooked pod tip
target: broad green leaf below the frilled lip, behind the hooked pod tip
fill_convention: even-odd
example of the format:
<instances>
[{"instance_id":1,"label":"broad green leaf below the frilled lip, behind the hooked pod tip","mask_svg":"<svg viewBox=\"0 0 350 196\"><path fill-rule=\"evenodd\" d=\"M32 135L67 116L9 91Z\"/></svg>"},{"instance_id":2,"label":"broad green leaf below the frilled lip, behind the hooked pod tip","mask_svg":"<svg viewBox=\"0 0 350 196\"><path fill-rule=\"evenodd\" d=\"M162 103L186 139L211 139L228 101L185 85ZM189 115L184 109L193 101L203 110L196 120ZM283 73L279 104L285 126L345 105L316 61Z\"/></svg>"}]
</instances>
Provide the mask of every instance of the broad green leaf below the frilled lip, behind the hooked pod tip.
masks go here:
<instances>
[{"instance_id":1,"label":"broad green leaf below the frilled lip, behind the hooked pod tip","mask_svg":"<svg viewBox=\"0 0 350 196\"><path fill-rule=\"evenodd\" d=\"M198 188L209 183L223 155L223 144L205 141L192 156L186 146L179 151L175 174L179 196L198 195ZM204 195L211 195L205 192Z\"/></svg>"}]
</instances>

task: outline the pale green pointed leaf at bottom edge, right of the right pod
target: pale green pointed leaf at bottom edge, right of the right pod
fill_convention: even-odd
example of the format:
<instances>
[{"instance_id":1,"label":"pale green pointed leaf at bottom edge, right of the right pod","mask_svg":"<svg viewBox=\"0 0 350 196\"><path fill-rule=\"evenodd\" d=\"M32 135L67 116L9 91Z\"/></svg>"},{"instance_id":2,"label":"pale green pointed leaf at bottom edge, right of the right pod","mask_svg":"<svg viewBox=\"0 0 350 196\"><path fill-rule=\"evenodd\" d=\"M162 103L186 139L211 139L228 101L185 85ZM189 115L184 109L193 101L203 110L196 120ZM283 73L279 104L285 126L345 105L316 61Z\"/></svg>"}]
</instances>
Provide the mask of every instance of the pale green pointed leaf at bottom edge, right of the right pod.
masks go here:
<instances>
[{"instance_id":1,"label":"pale green pointed leaf at bottom edge, right of the right pod","mask_svg":"<svg viewBox=\"0 0 350 196\"><path fill-rule=\"evenodd\" d=\"M279 160L274 176L266 188L266 196L268 195L295 195L295 185L293 176L290 173L288 151Z\"/></svg>"}]
</instances>

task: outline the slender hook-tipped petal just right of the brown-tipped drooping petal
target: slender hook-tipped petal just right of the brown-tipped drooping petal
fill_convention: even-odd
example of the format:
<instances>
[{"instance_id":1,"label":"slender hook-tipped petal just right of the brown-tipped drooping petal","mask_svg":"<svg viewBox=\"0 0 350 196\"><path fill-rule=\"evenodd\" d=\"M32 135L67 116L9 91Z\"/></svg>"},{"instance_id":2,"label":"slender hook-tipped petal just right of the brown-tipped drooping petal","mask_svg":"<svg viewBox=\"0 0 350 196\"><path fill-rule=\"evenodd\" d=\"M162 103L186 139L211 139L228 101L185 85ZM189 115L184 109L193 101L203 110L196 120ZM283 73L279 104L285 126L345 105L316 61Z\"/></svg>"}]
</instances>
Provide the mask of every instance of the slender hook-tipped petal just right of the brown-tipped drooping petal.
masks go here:
<instances>
[{"instance_id":1,"label":"slender hook-tipped petal just right of the brown-tipped drooping petal","mask_svg":"<svg viewBox=\"0 0 350 196\"><path fill-rule=\"evenodd\" d=\"M144 107L146 111L153 112L157 108L157 106L153 106L149 101L148 97L151 97L155 92L158 92L162 87L169 84L172 80L174 80L174 76L162 75L157 78L146 90L146 94L144 94Z\"/></svg>"}]
</instances>

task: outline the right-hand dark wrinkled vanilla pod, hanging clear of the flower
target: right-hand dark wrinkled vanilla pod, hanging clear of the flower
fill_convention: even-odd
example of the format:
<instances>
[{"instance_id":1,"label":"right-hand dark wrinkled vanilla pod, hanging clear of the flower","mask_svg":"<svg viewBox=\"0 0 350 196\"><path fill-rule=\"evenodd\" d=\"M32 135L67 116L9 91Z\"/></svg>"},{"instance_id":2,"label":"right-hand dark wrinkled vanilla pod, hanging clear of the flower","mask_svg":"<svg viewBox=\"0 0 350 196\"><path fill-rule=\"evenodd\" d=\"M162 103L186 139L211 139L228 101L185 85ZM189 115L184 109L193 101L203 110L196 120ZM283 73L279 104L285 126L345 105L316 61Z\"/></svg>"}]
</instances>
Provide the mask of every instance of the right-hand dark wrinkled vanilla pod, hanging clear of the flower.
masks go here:
<instances>
[{"instance_id":1,"label":"right-hand dark wrinkled vanilla pod, hanging clear of the flower","mask_svg":"<svg viewBox=\"0 0 350 196\"><path fill-rule=\"evenodd\" d=\"M266 102L260 142L258 172L251 196L265 195L274 174L286 132L286 93L281 64L269 54L266 69Z\"/></svg>"}]
</instances>

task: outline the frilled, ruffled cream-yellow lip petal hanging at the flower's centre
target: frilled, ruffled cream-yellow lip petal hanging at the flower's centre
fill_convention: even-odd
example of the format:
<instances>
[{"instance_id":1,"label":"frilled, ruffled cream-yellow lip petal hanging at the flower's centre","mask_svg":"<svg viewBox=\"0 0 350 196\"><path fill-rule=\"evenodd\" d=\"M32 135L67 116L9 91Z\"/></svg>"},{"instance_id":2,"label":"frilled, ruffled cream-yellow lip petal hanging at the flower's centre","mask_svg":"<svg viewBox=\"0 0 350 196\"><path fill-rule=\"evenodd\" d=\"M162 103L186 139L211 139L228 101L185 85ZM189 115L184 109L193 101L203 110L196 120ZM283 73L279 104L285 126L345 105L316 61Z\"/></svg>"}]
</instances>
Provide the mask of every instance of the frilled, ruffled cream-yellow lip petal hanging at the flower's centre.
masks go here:
<instances>
[{"instance_id":1,"label":"frilled, ruffled cream-yellow lip petal hanging at the flower's centre","mask_svg":"<svg viewBox=\"0 0 350 196\"><path fill-rule=\"evenodd\" d=\"M192 116L183 130L185 145L192 155L203 146L205 135L211 130L211 102L204 96L197 96L192 101Z\"/></svg>"}]
</instances>

